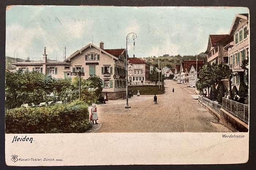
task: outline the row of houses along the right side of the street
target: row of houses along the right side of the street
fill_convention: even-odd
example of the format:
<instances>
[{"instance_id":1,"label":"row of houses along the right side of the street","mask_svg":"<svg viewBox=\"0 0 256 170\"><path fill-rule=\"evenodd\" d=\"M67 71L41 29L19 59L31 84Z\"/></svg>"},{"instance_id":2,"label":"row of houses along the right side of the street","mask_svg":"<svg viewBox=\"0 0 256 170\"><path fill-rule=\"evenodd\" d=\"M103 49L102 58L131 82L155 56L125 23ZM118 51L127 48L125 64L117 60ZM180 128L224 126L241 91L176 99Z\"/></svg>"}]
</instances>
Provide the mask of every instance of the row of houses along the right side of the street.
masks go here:
<instances>
[{"instance_id":1,"label":"row of houses along the right side of the street","mask_svg":"<svg viewBox=\"0 0 256 170\"><path fill-rule=\"evenodd\" d=\"M249 58L249 18L248 14L236 14L229 34L209 35L208 46L205 52L208 63L224 63L229 65L234 73L232 88L239 90L241 82L246 82L248 74L241 68L242 61ZM197 76L203 66L203 61L197 61ZM248 67L248 66L247 66ZM174 79L195 87L196 60L185 60L175 65ZM227 82L224 82L228 88Z\"/></svg>"}]
</instances>

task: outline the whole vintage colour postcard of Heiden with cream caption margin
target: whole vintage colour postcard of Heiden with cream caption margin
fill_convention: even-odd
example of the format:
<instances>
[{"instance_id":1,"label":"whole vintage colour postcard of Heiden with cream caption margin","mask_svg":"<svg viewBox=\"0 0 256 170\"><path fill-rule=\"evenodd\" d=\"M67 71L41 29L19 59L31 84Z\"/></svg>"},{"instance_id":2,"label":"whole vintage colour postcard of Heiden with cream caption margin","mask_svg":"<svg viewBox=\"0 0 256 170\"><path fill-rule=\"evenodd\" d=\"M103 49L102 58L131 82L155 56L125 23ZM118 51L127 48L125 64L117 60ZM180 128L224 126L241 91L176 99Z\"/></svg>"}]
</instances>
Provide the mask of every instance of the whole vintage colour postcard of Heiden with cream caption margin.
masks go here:
<instances>
[{"instance_id":1,"label":"whole vintage colour postcard of Heiden with cream caption margin","mask_svg":"<svg viewBox=\"0 0 256 170\"><path fill-rule=\"evenodd\" d=\"M8 166L246 163L245 7L6 8Z\"/></svg>"}]
</instances>

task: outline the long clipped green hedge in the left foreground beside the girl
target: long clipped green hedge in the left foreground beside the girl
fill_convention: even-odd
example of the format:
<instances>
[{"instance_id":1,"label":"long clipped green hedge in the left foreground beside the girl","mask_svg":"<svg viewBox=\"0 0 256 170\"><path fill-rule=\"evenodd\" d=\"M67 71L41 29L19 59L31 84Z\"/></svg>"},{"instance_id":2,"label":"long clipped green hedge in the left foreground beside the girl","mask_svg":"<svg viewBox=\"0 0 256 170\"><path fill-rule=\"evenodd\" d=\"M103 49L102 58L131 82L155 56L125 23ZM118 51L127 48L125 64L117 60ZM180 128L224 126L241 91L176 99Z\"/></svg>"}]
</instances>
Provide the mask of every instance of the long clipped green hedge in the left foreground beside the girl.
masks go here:
<instances>
[{"instance_id":1,"label":"long clipped green hedge in the left foreground beside the girl","mask_svg":"<svg viewBox=\"0 0 256 170\"><path fill-rule=\"evenodd\" d=\"M6 133L84 133L90 128L88 106L74 101L6 110Z\"/></svg>"}]
</instances>

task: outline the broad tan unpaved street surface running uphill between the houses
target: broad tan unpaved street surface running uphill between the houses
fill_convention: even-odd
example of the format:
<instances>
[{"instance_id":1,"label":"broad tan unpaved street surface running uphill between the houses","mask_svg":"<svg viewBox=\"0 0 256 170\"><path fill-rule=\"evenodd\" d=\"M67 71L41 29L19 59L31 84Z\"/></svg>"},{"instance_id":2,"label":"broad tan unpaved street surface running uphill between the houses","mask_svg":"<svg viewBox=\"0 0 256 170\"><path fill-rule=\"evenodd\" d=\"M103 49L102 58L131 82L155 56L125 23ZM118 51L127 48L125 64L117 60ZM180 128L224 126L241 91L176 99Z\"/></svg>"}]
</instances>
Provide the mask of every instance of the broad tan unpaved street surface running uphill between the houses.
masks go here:
<instances>
[{"instance_id":1,"label":"broad tan unpaved street surface running uphill between the houses","mask_svg":"<svg viewBox=\"0 0 256 170\"><path fill-rule=\"evenodd\" d=\"M124 108L125 99L97 105L99 124L90 132L232 132L194 94L195 88L165 80L165 94L157 95L157 105L154 95L133 95L128 99L131 109Z\"/></svg>"}]
</instances>

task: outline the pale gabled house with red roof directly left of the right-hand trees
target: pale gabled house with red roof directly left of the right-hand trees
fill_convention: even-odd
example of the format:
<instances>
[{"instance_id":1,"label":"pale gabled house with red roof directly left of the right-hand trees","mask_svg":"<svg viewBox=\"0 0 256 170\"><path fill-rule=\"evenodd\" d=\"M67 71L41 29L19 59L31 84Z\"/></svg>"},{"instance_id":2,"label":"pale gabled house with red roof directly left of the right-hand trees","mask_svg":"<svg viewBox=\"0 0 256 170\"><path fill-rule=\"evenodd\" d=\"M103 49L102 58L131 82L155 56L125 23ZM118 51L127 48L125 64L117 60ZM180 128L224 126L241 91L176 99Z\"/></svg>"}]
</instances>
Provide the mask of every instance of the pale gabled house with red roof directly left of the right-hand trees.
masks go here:
<instances>
[{"instance_id":1,"label":"pale gabled house with red roof directly left of the right-hand trees","mask_svg":"<svg viewBox=\"0 0 256 170\"><path fill-rule=\"evenodd\" d=\"M203 65L206 63L197 63L197 70L196 70L196 63L191 63L189 69L188 69L188 75L189 75L189 79L188 79L188 84L190 87L196 87L196 81L199 80L199 71L201 70L201 68L203 67ZM196 73L197 71L197 73ZM197 78L196 78L197 76Z\"/></svg>"}]
</instances>

